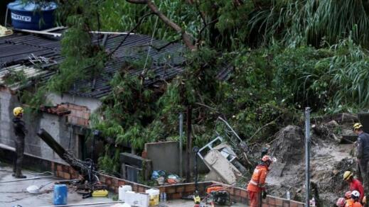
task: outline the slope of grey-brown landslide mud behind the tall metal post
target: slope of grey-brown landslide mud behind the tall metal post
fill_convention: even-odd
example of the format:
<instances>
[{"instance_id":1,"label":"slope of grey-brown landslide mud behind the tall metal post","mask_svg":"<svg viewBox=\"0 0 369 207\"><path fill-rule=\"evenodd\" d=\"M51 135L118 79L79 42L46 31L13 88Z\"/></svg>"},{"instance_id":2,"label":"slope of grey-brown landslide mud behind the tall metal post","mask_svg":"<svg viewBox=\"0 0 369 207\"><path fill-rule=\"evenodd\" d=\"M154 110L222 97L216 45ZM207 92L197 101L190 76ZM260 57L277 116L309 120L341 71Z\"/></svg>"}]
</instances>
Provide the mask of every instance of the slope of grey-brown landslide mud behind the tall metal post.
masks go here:
<instances>
[{"instance_id":1,"label":"slope of grey-brown landslide mud behind the tall metal post","mask_svg":"<svg viewBox=\"0 0 369 207\"><path fill-rule=\"evenodd\" d=\"M352 123L330 125L330 133L340 138L343 133L352 133ZM277 133L277 139L271 146L271 153L277 157L277 163L267 177L268 193L304 201L305 163L304 130L298 126L288 125ZM343 172L356 170L353 157L353 144L341 145L326 133L311 135L311 181L316 183L323 206L332 206L336 199L348 190L348 184L342 180Z\"/></svg>"}]
</instances>

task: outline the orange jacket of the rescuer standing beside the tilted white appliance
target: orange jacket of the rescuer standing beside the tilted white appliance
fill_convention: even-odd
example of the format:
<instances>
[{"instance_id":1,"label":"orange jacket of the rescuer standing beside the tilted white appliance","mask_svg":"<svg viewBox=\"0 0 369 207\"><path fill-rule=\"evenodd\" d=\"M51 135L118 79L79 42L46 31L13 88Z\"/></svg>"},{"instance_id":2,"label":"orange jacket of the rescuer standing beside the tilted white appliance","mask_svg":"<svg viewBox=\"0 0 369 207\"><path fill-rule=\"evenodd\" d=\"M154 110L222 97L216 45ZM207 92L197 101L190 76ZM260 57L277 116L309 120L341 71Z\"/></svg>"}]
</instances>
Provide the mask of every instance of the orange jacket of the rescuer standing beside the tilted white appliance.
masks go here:
<instances>
[{"instance_id":1,"label":"orange jacket of the rescuer standing beside the tilted white appliance","mask_svg":"<svg viewBox=\"0 0 369 207\"><path fill-rule=\"evenodd\" d=\"M251 180L247 185L247 191L260 193L265 189L265 180L267 179L268 167L265 164L259 164L252 174Z\"/></svg>"}]
</instances>

